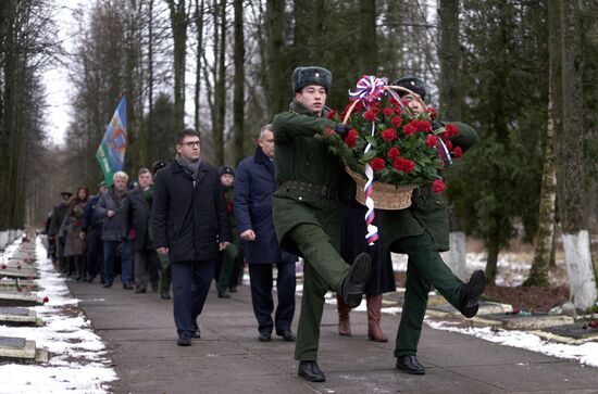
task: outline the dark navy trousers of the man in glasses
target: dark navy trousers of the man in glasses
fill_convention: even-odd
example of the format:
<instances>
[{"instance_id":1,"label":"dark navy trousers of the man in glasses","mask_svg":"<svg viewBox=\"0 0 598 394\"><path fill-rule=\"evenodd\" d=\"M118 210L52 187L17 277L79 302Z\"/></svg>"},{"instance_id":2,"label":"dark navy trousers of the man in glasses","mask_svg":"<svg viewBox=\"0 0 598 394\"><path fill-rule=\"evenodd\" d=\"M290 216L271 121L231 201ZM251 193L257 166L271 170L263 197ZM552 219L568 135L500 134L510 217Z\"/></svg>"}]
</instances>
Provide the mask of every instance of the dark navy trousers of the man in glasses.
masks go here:
<instances>
[{"instance_id":1,"label":"dark navy trousers of the man in glasses","mask_svg":"<svg viewBox=\"0 0 598 394\"><path fill-rule=\"evenodd\" d=\"M190 335L198 329L197 317L208 297L214 268L214 260L171 262L174 323L178 335Z\"/></svg>"}]
</instances>

